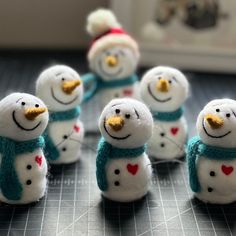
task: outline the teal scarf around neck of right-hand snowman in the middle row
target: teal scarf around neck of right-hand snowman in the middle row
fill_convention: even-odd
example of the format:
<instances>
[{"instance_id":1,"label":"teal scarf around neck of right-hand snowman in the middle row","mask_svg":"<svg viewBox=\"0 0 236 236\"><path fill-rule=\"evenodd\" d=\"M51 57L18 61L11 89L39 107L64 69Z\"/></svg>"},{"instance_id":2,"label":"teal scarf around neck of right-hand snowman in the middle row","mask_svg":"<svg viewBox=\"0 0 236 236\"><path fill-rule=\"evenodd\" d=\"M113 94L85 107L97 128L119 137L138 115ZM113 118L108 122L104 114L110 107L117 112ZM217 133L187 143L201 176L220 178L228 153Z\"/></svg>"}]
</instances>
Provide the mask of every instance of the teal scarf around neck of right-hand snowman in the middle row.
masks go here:
<instances>
[{"instance_id":1,"label":"teal scarf around neck of right-hand snowman in the middle row","mask_svg":"<svg viewBox=\"0 0 236 236\"><path fill-rule=\"evenodd\" d=\"M183 108L180 107L178 110L172 112L152 111L152 115L156 120L167 122L176 121L183 115Z\"/></svg>"}]
</instances>

